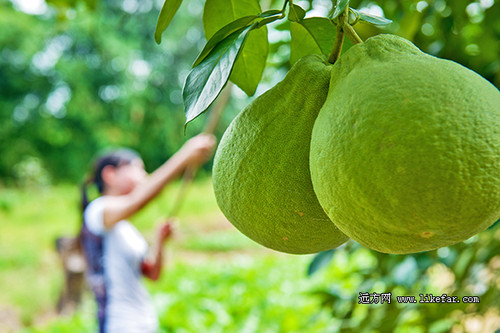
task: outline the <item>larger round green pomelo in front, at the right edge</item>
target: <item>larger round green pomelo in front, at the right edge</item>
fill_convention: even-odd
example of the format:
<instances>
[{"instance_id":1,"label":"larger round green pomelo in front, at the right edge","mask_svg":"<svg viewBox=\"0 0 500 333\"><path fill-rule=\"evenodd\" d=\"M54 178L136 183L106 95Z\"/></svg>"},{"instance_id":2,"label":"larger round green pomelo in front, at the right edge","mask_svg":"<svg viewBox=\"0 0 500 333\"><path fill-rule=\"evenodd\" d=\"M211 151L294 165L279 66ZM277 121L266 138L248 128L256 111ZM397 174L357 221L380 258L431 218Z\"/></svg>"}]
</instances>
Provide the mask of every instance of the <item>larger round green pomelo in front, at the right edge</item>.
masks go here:
<instances>
[{"instance_id":1,"label":"larger round green pomelo in front, at the right edge","mask_svg":"<svg viewBox=\"0 0 500 333\"><path fill-rule=\"evenodd\" d=\"M368 248L466 240L500 216L500 92L403 38L370 38L333 67L310 168L325 212Z\"/></svg>"}]
</instances>

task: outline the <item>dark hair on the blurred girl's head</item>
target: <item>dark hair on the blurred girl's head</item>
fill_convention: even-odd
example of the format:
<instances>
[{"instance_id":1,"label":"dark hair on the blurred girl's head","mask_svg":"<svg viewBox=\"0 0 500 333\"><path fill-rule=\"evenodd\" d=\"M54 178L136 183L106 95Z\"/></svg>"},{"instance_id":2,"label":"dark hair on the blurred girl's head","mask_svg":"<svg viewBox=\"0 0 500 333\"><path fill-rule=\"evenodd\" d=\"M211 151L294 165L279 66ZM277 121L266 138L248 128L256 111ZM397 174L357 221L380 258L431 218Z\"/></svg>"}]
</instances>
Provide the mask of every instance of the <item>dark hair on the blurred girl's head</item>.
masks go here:
<instances>
[{"instance_id":1,"label":"dark hair on the blurred girl's head","mask_svg":"<svg viewBox=\"0 0 500 333\"><path fill-rule=\"evenodd\" d=\"M95 159L91 176L88 177L82 184L82 211L85 210L85 208L89 204L89 200L87 197L87 187L89 185L95 184L99 193L102 193L104 191L102 170L106 166L111 165L114 167L119 167L122 165L130 164L132 161L140 158L140 155L136 151L128 148L120 148L99 154Z\"/></svg>"}]
</instances>

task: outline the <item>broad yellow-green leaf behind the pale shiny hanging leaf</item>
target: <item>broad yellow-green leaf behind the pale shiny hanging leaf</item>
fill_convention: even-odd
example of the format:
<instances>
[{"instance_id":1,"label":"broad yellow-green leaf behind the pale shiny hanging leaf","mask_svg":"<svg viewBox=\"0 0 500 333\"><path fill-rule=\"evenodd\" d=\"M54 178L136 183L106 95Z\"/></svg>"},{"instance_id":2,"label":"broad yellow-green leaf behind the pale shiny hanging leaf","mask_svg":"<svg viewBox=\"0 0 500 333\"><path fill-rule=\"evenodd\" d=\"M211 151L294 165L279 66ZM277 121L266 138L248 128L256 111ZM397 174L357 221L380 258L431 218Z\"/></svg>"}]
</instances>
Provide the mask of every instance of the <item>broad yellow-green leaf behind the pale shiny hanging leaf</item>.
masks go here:
<instances>
[{"instance_id":1,"label":"broad yellow-green leaf behind the pale shiny hanging leaf","mask_svg":"<svg viewBox=\"0 0 500 333\"><path fill-rule=\"evenodd\" d=\"M207 0L203 12L205 36L210 38L221 27L241 17L259 14L258 0ZM255 93L262 78L268 49L267 27L254 29L234 65L230 79L249 96Z\"/></svg>"}]
</instances>

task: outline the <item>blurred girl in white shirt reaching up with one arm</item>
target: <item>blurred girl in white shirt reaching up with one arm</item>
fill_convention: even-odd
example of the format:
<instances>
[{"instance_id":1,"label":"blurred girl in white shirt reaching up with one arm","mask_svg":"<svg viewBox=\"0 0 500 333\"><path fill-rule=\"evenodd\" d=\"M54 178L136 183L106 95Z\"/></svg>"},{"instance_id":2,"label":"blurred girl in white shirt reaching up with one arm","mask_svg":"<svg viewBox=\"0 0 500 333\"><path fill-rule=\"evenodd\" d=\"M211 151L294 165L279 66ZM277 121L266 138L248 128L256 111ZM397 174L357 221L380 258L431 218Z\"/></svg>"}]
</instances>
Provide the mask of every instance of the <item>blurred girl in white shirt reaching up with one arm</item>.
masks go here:
<instances>
[{"instance_id":1,"label":"blurred girl in white shirt reaching up with one arm","mask_svg":"<svg viewBox=\"0 0 500 333\"><path fill-rule=\"evenodd\" d=\"M94 183L101 194L88 203L83 187L82 247L87 280L98 304L99 331L149 333L158 330L158 318L141 276L152 280L162 268L163 243L172 234L171 223L159 226L152 251L127 218L138 212L187 167L196 167L212 155L215 139L198 135L151 175L137 153L112 151L95 164Z\"/></svg>"}]
</instances>

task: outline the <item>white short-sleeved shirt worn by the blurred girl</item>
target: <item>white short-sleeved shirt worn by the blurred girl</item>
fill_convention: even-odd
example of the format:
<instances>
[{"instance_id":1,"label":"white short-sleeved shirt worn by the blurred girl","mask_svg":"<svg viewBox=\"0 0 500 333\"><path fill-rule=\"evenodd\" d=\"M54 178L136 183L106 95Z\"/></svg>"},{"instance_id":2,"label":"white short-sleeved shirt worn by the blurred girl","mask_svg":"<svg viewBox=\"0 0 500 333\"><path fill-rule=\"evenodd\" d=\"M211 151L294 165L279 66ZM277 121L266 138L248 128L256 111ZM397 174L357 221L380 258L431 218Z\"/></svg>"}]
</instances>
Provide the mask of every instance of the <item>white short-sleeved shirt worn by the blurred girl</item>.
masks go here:
<instances>
[{"instance_id":1,"label":"white short-sleeved shirt worn by the blurred girl","mask_svg":"<svg viewBox=\"0 0 500 333\"><path fill-rule=\"evenodd\" d=\"M106 230L103 213L106 196L92 201L84 211L88 229L103 237L103 265L106 281L106 332L153 333L158 317L151 297L141 283L141 263L148 244L127 220Z\"/></svg>"}]
</instances>

